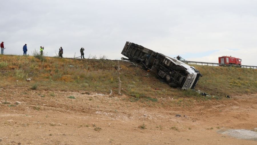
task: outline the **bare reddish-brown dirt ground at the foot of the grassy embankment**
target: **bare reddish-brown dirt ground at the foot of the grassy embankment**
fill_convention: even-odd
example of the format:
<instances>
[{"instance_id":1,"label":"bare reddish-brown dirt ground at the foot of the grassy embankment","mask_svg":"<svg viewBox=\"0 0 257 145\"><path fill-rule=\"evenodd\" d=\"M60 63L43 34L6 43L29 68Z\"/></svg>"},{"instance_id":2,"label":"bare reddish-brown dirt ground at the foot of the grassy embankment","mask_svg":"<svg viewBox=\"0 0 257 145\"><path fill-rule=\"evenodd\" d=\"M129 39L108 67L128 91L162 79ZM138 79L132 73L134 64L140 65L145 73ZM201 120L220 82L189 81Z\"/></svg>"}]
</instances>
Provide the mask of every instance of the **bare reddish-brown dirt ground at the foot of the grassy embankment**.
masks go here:
<instances>
[{"instance_id":1,"label":"bare reddish-brown dirt ground at the foot of the grassy embankment","mask_svg":"<svg viewBox=\"0 0 257 145\"><path fill-rule=\"evenodd\" d=\"M225 100L157 97L158 102L134 102L125 95L85 91L0 90L0 144L257 143L217 133L256 128L257 94ZM4 103L5 98L10 104Z\"/></svg>"}]
</instances>

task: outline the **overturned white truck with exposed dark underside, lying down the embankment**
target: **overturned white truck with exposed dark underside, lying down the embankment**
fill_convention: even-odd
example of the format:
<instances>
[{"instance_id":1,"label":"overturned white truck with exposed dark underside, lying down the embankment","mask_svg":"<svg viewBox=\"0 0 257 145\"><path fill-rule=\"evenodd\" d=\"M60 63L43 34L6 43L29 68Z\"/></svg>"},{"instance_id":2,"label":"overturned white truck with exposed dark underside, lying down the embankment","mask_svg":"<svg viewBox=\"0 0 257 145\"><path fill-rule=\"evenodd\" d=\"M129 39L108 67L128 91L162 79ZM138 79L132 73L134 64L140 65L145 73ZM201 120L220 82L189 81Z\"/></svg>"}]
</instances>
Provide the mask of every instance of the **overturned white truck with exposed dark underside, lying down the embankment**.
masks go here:
<instances>
[{"instance_id":1,"label":"overturned white truck with exposed dark underside, lying down the embankment","mask_svg":"<svg viewBox=\"0 0 257 145\"><path fill-rule=\"evenodd\" d=\"M152 73L166 80L169 86L182 90L194 89L202 76L194 67L135 43L126 42L121 54L129 61L144 64Z\"/></svg>"}]
</instances>

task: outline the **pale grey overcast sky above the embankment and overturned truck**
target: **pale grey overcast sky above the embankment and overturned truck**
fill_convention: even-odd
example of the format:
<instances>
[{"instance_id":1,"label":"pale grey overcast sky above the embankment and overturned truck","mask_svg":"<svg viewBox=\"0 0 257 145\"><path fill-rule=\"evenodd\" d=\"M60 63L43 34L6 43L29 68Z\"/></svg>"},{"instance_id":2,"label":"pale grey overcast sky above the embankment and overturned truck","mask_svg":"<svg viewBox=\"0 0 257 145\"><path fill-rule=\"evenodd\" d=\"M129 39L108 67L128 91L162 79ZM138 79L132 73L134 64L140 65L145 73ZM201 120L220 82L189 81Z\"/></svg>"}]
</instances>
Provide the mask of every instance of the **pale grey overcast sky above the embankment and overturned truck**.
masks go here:
<instances>
[{"instance_id":1,"label":"pale grey overcast sky above the embankment and overturned truck","mask_svg":"<svg viewBox=\"0 0 257 145\"><path fill-rule=\"evenodd\" d=\"M170 57L257 66L256 0L0 0L5 54L40 46L48 56L120 59L126 41Z\"/></svg>"}]
</instances>

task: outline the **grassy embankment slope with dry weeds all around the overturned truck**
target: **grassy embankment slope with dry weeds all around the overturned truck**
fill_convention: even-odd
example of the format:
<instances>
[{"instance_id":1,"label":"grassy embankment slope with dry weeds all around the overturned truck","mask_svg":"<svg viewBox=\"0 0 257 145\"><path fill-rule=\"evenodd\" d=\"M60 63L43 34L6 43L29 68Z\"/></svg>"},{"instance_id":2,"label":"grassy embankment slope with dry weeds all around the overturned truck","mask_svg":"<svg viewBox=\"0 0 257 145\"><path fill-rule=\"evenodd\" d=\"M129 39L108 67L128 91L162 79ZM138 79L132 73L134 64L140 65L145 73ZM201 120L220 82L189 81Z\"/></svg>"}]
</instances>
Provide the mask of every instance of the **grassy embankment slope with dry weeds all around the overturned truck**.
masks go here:
<instances>
[{"instance_id":1,"label":"grassy embankment slope with dry weeds all around the overturned truck","mask_svg":"<svg viewBox=\"0 0 257 145\"><path fill-rule=\"evenodd\" d=\"M204 98L192 90L181 91L162 83L141 67L122 62L122 94L156 102L160 97ZM117 61L106 59L64 59L17 55L0 56L1 86L19 86L44 90L86 90L117 94ZM214 96L257 92L257 69L195 65L203 77L196 90ZM30 82L26 78L31 78ZM54 96L54 94L53 94ZM208 98L209 99L209 98ZM212 99L210 97L210 99ZM180 102L178 102L180 103Z\"/></svg>"}]
</instances>

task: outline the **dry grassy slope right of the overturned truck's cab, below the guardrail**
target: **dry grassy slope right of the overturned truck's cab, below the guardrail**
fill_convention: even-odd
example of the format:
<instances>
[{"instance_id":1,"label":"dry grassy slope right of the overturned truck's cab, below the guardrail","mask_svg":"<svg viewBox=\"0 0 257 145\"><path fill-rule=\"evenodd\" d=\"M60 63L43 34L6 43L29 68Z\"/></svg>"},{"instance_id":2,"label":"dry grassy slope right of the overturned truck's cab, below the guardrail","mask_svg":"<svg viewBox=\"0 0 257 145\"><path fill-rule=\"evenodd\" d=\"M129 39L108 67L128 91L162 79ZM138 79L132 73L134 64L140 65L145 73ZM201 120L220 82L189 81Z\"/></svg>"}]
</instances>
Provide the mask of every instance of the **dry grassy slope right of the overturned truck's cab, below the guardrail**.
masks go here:
<instances>
[{"instance_id":1,"label":"dry grassy slope right of the overturned truck's cab, below the guardrail","mask_svg":"<svg viewBox=\"0 0 257 145\"><path fill-rule=\"evenodd\" d=\"M203 75L196 89L225 96L257 92L257 69L194 65Z\"/></svg>"}]
</instances>

